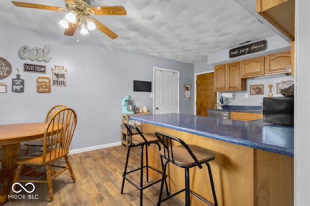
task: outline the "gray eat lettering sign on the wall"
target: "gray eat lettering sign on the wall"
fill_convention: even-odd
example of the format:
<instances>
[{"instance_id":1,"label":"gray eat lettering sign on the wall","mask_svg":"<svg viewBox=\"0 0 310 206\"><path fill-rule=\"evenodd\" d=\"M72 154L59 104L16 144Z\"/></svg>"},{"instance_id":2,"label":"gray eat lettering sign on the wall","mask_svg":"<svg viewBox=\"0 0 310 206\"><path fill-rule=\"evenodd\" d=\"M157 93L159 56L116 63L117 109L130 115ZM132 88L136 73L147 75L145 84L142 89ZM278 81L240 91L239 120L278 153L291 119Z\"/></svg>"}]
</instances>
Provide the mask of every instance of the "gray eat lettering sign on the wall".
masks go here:
<instances>
[{"instance_id":1,"label":"gray eat lettering sign on the wall","mask_svg":"<svg viewBox=\"0 0 310 206\"><path fill-rule=\"evenodd\" d=\"M44 49L39 49L38 47L34 47L29 49L29 46L22 46L19 49L19 58L20 59L30 59L31 61L50 61L50 57L47 55L49 53L49 45L45 45Z\"/></svg>"}]
</instances>

